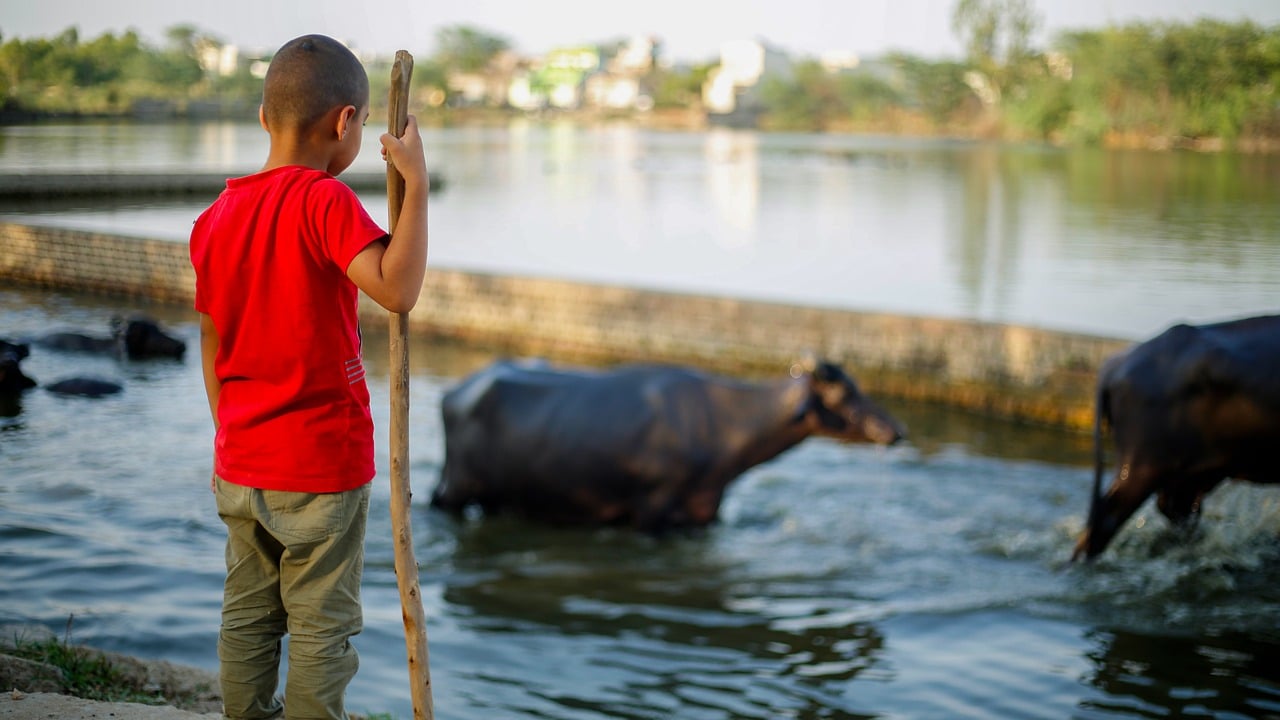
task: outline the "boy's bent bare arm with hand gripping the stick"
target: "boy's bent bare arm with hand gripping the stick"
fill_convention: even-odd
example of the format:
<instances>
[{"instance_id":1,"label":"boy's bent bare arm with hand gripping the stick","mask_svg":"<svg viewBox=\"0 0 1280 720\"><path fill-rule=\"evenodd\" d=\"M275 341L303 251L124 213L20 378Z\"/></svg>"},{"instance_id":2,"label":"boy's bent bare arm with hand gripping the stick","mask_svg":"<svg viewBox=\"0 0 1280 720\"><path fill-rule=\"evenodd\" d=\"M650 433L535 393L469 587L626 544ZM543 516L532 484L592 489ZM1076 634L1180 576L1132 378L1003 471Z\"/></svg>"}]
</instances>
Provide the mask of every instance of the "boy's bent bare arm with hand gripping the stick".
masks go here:
<instances>
[{"instance_id":1,"label":"boy's bent bare arm with hand gripping the stick","mask_svg":"<svg viewBox=\"0 0 1280 720\"><path fill-rule=\"evenodd\" d=\"M383 133L383 155L404 178L404 205L390 242L372 242L347 266L347 277L375 302L393 313L408 313L417 304L426 274L426 174L417 119L408 117L404 136Z\"/></svg>"}]
</instances>

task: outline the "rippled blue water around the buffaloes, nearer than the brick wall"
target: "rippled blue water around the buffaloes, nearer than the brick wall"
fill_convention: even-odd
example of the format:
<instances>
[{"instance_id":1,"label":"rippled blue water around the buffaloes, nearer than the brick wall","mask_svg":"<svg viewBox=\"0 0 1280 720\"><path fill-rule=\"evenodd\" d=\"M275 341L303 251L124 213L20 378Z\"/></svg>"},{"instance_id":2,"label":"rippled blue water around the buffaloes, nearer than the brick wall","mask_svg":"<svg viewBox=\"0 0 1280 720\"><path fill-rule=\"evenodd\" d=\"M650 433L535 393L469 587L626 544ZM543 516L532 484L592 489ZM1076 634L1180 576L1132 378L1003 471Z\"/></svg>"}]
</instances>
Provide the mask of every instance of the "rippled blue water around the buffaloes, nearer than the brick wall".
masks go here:
<instances>
[{"instance_id":1,"label":"rippled blue water around the buffaloes, nearer than the brick wall","mask_svg":"<svg viewBox=\"0 0 1280 720\"><path fill-rule=\"evenodd\" d=\"M6 333L105 328L111 300L0 290ZM193 346L189 311L143 307ZM372 333L371 333L372 334ZM390 542L385 346L356 711L411 716ZM809 441L731 487L723 521L654 541L456 521L425 505L442 392L492 357L412 348L416 488L434 700L488 720L1265 717L1280 712L1280 496L1228 486L1199 530L1152 509L1088 568L1080 436L890 402L892 447ZM35 351L0 418L0 624L215 669L224 530L207 489L200 366Z\"/></svg>"}]
</instances>

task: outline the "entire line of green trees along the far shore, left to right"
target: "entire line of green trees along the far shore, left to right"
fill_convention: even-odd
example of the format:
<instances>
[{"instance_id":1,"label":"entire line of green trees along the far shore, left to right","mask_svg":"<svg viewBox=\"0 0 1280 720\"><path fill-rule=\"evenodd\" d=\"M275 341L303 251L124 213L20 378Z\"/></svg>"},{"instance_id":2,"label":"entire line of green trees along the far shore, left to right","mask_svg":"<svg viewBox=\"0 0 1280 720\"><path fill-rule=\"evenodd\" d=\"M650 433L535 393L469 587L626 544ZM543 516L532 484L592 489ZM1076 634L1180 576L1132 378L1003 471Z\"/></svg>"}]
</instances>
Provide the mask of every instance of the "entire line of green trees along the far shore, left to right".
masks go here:
<instances>
[{"instance_id":1,"label":"entire line of green trees along the far shore, left to right","mask_svg":"<svg viewBox=\"0 0 1280 720\"><path fill-rule=\"evenodd\" d=\"M799 58L759 87L762 127L1050 140L1062 143L1280 141L1280 27L1249 20L1134 22L1060 33L1046 47L1032 0L957 0L960 59L905 53L832 70ZM0 37L0 111L129 114L140 101L253 106L261 79L241 63L209 72L200 58L220 42L191 26L160 46L136 32L84 41ZM620 44L599 44L602 56ZM509 50L502 36L443 28L415 85L447 97L451 72L483 70ZM265 60L265 59L264 59ZM696 108L714 61L655 65L643 78L655 108ZM385 92L370 67L374 97ZM448 113L448 104L440 113Z\"/></svg>"}]
</instances>

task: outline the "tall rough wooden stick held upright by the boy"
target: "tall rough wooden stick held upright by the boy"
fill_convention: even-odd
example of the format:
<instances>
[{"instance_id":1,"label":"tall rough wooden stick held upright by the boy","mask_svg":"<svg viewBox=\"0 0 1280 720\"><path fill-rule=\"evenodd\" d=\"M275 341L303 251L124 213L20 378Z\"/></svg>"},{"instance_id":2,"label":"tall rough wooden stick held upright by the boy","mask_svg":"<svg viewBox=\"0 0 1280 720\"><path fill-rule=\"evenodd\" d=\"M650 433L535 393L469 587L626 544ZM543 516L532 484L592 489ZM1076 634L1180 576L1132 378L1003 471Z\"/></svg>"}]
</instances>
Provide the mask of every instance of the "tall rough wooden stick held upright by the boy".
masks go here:
<instances>
[{"instance_id":1,"label":"tall rough wooden stick held upright by the boy","mask_svg":"<svg viewBox=\"0 0 1280 720\"><path fill-rule=\"evenodd\" d=\"M413 76L413 56L396 51L392 64L392 88L388 97L387 129L396 137L404 135L408 123L408 81ZM401 208L404 205L404 178L387 160L387 209L390 231L396 232ZM431 720L431 667L426 648L426 612L417 585L417 561L413 559L413 532L410 527L408 484L408 315L390 314L390 386L392 386L392 533L396 536L396 584L399 585L401 611L404 616L404 644L408 650L408 682L413 700L413 719Z\"/></svg>"}]
</instances>

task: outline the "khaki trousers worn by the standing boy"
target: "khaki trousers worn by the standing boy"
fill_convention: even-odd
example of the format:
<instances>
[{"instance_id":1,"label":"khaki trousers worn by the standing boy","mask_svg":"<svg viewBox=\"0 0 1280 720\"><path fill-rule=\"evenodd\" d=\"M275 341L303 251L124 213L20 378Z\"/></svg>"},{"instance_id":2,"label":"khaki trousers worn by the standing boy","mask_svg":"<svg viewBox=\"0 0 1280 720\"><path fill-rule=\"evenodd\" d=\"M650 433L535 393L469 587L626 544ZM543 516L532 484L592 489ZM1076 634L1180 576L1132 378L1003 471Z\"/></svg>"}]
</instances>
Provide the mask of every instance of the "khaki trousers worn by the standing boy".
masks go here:
<instances>
[{"instance_id":1,"label":"khaki trousers worn by the standing boy","mask_svg":"<svg viewBox=\"0 0 1280 720\"><path fill-rule=\"evenodd\" d=\"M369 484L338 493L262 491L215 482L227 524L218 637L223 712L232 720L344 720L343 696L364 628ZM284 703L275 697L289 635Z\"/></svg>"}]
</instances>

